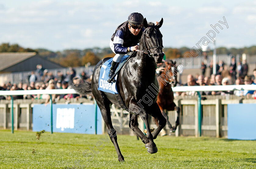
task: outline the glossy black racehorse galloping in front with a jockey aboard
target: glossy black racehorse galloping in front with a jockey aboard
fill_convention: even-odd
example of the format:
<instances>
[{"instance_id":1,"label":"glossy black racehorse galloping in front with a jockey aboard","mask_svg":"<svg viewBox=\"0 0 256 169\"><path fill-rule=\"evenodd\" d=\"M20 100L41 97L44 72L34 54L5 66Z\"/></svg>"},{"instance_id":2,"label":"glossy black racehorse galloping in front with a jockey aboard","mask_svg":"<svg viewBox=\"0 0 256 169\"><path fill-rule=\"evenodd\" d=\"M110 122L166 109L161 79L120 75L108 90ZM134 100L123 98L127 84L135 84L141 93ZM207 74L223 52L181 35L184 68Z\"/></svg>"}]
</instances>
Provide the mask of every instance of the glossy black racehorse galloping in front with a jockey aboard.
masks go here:
<instances>
[{"instance_id":1,"label":"glossy black racehorse galloping in front with a jockey aboard","mask_svg":"<svg viewBox=\"0 0 256 169\"><path fill-rule=\"evenodd\" d=\"M148 148L148 152L153 154L158 151L153 139L156 139L166 124L166 119L156 103L159 87L155 76L156 63L162 63L164 56L162 52L162 34L159 30L163 24L163 19L155 25L152 22L148 23L145 18L143 24L145 30L140 39L137 55L130 58L120 70L116 84L121 98L129 109L127 110L130 113L129 127L140 137L145 147ZM116 131L112 126L110 113L111 104L121 106L114 94L98 90L100 69L108 59L102 59L95 66L91 83L73 85L73 89L82 95L93 94L101 110L103 120L108 127L108 135L116 148L118 160L124 161L117 143ZM144 121L147 131L150 131L148 114L158 119L159 124L152 134L148 132L148 135L145 136L138 128L136 119L139 115Z\"/></svg>"}]
</instances>

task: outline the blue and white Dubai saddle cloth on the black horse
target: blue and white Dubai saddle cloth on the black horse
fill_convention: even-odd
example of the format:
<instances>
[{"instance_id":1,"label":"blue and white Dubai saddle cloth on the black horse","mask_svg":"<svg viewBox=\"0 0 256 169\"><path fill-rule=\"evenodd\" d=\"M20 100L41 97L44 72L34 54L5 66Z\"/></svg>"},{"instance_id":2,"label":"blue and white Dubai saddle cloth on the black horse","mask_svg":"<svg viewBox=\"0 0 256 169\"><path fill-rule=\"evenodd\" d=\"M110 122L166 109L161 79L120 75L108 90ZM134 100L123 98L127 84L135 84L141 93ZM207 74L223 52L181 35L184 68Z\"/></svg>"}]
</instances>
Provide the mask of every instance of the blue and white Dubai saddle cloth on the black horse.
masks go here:
<instances>
[{"instance_id":1,"label":"blue and white Dubai saddle cloth on the black horse","mask_svg":"<svg viewBox=\"0 0 256 169\"><path fill-rule=\"evenodd\" d=\"M125 61L128 57L129 57L129 55L125 55L121 58L120 63L118 65L117 69L116 69L116 72L119 71L119 68L125 63ZM103 65L101 66L98 90L101 90L101 91L107 92L107 93L115 94L115 93L118 93L117 92L117 87L116 87L116 82L115 83L108 83L107 82L108 73L109 73L109 70L110 70L110 67L111 67L112 60L113 60L113 58L109 59L108 61L103 63ZM114 79L117 79L117 76L118 75L116 75L116 77Z\"/></svg>"}]
</instances>

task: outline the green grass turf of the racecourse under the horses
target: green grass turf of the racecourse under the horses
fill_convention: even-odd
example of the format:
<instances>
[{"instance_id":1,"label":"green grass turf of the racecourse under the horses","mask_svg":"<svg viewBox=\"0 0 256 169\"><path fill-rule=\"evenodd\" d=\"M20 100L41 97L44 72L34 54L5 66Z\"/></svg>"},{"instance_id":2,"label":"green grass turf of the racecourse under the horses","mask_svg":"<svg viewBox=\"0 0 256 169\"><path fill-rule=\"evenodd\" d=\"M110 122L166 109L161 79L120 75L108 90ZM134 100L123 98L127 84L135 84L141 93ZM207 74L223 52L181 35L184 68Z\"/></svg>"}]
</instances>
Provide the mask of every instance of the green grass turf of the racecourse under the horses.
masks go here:
<instances>
[{"instance_id":1,"label":"green grass turf of the racecourse under the horses","mask_svg":"<svg viewBox=\"0 0 256 169\"><path fill-rule=\"evenodd\" d=\"M0 168L256 168L256 141L212 137L158 137L158 153L149 154L135 136L118 135L125 162L117 159L105 135L0 130ZM101 141L105 147L91 158L83 152ZM33 152L34 149L34 153ZM96 149L96 147L94 147Z\"/></svg>"}]
</instances>

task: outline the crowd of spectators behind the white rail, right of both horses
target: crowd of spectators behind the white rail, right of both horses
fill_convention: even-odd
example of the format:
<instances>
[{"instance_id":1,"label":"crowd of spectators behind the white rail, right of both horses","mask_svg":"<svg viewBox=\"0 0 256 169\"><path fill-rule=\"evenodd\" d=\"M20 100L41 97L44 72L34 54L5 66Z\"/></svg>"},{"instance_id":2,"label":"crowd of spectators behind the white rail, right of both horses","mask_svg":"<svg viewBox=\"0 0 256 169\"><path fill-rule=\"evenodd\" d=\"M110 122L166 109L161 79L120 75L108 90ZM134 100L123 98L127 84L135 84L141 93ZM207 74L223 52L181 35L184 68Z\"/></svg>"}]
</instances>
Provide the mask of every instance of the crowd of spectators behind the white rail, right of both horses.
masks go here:
<instances>
[{"instance_id":1,"label":"crowd of spectators behind the white rail, right of both horses","mask_svg":"<svg viewBox=\"0 0 256 169\"><path fill-rule=\"evenodd\" d=\"M202 63L203 64L203 63ZM225 65L223 62L219 62L219 69L215 74L211 74L211 76L204 76L204 71L202 71L202 75L198 75L198 77L194 77L193 75L187 76L187 83L179 84L179 86L212 86L212 85L255 85L256 84L256 69L253 70L253 76L248 76L248 66L246 62L243 62L244 66L241 66L241 76L236 78L236 63L232 58L232 63L230 66ZM211 66L211 65L210 65ZM224 67L224 68L223 68ZM223 68L223 69L222 69ZM246 96L247 98L256 99L256 91L248 91L248 90L236 90L236 91L205 91L201 92L201 95L236 95L236 96ZM197 92L176 92L175 96L185 96L197 95Z\"/></svg>"}]
</instances>

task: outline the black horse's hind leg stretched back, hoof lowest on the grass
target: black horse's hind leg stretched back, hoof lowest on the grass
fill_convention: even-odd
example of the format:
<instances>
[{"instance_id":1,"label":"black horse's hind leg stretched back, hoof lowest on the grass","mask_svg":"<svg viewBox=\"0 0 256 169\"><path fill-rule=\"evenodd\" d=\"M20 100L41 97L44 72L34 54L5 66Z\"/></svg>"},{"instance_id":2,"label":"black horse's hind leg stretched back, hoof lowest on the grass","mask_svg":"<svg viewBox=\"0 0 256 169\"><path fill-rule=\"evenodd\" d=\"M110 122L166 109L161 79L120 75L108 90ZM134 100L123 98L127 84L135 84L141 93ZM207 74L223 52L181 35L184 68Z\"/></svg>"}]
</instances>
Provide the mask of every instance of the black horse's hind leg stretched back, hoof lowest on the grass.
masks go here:
<instances>
[{"instance_id":1,"label":"black horse's hind leg stretched back, hoof lowest on the grass","mask_svg":"<svg viewBox=\"0 0 256 169\"><path fill-rule=\"evenodd\" d=\"M97 100L97 104L101 110L102 118L103 118L106 126L108 127L108 135L116 148L118 160L124 161L123 155L121 154L121 151L120 151L118 143L117 143L116 130L114 129L114 127L112 125L112 121L111 121L111 113L110 113L110 106L109 106L110 102L109 102L109 100L106 100L106 99L104 101L104 98L101 98L101 99L95 98L95 100Z\"/></svg>"}]
</instances>

